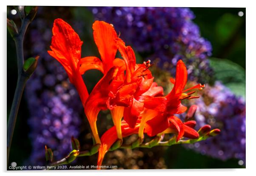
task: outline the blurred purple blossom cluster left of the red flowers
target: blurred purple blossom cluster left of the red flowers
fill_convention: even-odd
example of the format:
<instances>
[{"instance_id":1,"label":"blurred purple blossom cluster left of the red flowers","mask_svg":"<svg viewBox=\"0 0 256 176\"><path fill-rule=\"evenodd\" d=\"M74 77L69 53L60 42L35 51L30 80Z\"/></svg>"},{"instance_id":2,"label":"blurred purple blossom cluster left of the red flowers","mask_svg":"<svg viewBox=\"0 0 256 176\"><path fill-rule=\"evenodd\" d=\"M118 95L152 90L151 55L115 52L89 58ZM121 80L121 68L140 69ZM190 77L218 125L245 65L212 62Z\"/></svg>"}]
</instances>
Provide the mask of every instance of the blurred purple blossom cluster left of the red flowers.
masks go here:
<instances>
[{"instance_id":1,"label":"blurred purple blossom cluster left of the red flowers","mask_svg":"<svg viewBox=\"0 0 256 176\"><path fill-rule=\"evenodd\" d=\"M27 38L30 52L39 55L38 66L26 85L25 95L31 117L32 151L29 161L33 165L45 165L47 145L54 151L54 159L61 159L71 151L71 137L80 133L82 104L76 89L68 82L63 67L48 55L51 43L53 20L45 17L54 13L49 8L45 13L40 7L31 23ZM44 11L44 12L43 12ZM54 16L54 15L53 15ZM26 53L28 55L28 53Z\"/></svg>"}]
</instances>

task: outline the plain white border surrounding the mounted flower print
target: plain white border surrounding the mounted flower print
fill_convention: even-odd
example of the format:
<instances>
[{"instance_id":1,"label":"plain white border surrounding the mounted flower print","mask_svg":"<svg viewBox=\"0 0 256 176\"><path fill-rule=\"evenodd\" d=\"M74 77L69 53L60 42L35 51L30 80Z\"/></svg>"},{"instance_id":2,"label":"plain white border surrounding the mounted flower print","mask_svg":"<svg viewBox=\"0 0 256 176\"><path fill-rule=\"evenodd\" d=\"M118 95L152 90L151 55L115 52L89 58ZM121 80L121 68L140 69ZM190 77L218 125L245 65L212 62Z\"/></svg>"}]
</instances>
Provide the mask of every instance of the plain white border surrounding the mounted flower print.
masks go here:
<instances>
[{"instance_id":1,"label":"plain white border surrounding the mounted flower print","mask_svg":"<svg viewBox=\"0 0 256 176\"><path fill-rule=\"evenodd\" d=\"M1 171L5 172L3 175L6 175L6 5L59 5L59 6L171 6L171 7L245 7L246 8L246 169L186 169L186 170L102 170L102 171L90 171L90 170L72 170L68 171L48 171L47 173L60 173L61 175L70 175L74 173L75 175L87 175L89 173L100 174L100 175L120 175L130 176L131 174L144 174L147 175L156 175L158 172L160 174L178 174L178 175L207 175L207 176L216 176L223 174L232 174L233 175L252 175L255 173L255 108L256 97L255 91L255 71L256 71L256 57L254 57L254 51L256 47L256 23L255 23L255 5L253 1L246 0L214 0L214 1L203 1L203 0L2 0L1 1L1 33L0 33L0 112L2 113L2 143L1 147L1 159L0 167ZM42 171L23 171L18 172L21 176L27 176L31 174L43 175L46 172ZM91 174L90 174L91 175Z\"/></svg>"}]
</instances>

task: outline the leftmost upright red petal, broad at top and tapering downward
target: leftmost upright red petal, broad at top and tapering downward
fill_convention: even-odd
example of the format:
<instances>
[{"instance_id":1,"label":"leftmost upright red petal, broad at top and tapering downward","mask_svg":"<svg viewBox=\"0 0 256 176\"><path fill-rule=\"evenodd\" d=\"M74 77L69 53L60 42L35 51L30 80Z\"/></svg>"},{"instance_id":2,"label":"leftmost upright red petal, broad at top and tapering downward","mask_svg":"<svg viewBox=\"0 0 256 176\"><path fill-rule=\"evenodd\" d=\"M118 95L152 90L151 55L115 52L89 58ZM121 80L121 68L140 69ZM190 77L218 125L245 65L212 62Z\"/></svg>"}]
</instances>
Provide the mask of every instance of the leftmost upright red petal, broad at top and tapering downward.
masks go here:
<instances>
[{"instance_id":1,"label":"leftmost upright red petal, broad at top and tapering downward","mask_svg":"<svg viewBox=\"0 0 256 176\"><path fill-rule=\"evenodd\" d=\"M82 104L88 91L79 72L82 41L74 29L63 19L55 19L52 28L51 51L48 53L59 61L68 74L70 82L77 88Z\"/></svg>"}]
</instances>

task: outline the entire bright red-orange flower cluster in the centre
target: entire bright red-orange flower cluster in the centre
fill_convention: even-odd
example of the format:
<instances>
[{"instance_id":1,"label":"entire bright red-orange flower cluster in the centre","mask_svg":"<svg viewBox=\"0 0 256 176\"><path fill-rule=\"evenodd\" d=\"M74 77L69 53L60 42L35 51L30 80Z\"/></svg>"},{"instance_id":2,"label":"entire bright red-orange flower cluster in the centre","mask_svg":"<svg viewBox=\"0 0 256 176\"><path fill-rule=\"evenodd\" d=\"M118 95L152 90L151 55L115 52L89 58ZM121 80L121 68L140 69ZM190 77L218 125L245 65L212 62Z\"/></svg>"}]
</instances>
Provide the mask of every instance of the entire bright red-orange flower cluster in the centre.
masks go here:
<instances>
[{"instance_id":1,"label":"entire bright red-orange flower cluster in the centre","mask_svg":"<svg viewBox=\"0 0 256 176\"><path fill-rule=\"evenodd\" d=\"M175 116L187 110L181 100L198 98L191 96L195 93L191 90L204 87L198 84L184 90L187 69L182 60L176 66L176 79L170 80L174 88L164 96L163 88L154 82L149 70L152 65L150 60L136 63L133 49L125 46L113 25L95 21L92 28L101 58L81 58L82 41L62 19L54 21L51 51L48 53L63 65L70 82L77 88L93 137L100 144L98 165L102 164L105 153L117 139L122 141L123 137L132 134L138 134L141 141L144 133L148 136L175 133L177 141L181 137L198 138L198 132L193 129L194 121L183 123ZM117 50L122 59L115 58ZM104 74L90 95L81 76L89 69L98 69ZM97 115L100 110L107 109L111 112L114 126L100 138Z\"/></svg>"}]
</instances>

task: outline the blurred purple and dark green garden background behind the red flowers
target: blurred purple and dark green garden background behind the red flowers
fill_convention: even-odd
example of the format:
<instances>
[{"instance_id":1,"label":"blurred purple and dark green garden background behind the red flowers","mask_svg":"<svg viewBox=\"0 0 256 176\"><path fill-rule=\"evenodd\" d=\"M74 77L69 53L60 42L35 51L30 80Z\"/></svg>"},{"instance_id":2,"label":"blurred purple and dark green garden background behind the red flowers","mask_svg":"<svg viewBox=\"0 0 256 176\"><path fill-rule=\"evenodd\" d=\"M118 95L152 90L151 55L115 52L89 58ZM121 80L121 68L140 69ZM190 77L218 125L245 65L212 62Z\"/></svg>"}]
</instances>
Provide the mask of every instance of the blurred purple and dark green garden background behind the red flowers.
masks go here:
<instances>
[{"instance_id":1,"label":"blurred purple and dark green garden background behind the red flowers","mask_svg":"<svg viewBox=\"0 0 256 176\"><path fill-rule=\"evenodd\" d=\"M7 7L7 18L19 26L13 9ZM199 107L194 117L196 128L210 124L222 130L219 136L190 145L109 151L103 165L124 169L245 168L245 16L245 8L40 6L24 40L25 58L40 55L40 59L20 104L9 161L17 166L45 165L45 144L52 148L55 159L63 158L71 151L71 136L80 140L83 150L92 146L79 96L60 63L47 53L53 21L62 18L84 42L82 57L100 57L92 35L94 20L113 24L133 47L137 63L154 61L151 71L165 92L171 90L168 80L175 76L176 62L182 59L188 83L207 85L198 92L200 99L185 102ZM90 70L83 77L90 92L102 74ZM15 46L7 32L7 118L16 81ZM113 126L108 111L100 112L97 125L100 135ZM96 163L97 154L80 157L71 165Z\"/></svg>"}]
</instances>

